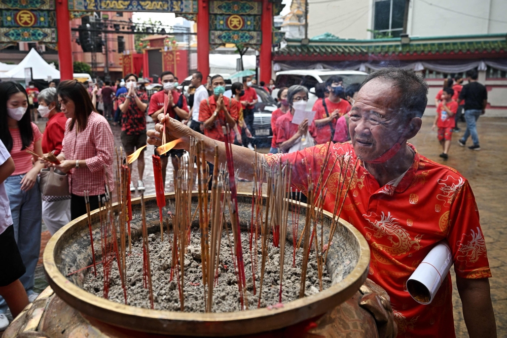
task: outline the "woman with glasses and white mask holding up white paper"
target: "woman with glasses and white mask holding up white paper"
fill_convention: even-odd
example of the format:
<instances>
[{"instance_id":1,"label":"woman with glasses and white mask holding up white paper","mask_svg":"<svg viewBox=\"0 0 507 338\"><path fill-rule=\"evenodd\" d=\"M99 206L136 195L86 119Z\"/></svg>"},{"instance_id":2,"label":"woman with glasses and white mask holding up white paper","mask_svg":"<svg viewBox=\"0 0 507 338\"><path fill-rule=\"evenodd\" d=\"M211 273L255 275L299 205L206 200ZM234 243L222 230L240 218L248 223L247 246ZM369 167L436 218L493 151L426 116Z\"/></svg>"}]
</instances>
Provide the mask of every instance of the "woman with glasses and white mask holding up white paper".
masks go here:
<instances>
[{"instance_id":1,"label":"woman with glasses and white mask holding up white paper","mask_svg":"<svg viewBox=\"0 0 507 338\"><path fill-rule=\"evenodd\" d=\"M292 123L296 110L305 110L308 103L308 89L305 86L294 85L287 90L287 104L290 109L280 116L275 123L276 144L280 152L287 153L291 147L300 142L307 132L312 138L316 137L315 124L304 119L299 125Z\"/></svg>"}]
</instances>

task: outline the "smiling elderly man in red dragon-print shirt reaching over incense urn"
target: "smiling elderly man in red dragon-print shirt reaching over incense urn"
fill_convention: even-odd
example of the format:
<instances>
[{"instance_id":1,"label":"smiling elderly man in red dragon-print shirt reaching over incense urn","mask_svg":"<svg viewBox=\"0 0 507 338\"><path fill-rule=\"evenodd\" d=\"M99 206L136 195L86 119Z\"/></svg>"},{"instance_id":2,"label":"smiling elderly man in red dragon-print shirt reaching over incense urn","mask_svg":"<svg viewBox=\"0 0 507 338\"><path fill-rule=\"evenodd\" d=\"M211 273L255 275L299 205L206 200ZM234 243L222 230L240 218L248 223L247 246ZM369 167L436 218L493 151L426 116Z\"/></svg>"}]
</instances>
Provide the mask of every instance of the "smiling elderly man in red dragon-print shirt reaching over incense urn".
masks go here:
<instances>
[{"instance_id":1,"label":"smiling elderly man in red dragon-print shirt reaching over incense urn","mask_svg":"<svg viewBox=\"0 0 507 338\"><path fill-rule=\"evenodd\" d=\"M496 337L496 323L488 278L491 277L486 244L477 205L468 181L454 169L420 155L407 140L422 125L418 115L426 109L428 86L414 72L384 68L370 74L350 113L352 144L331 144L331 158L350 158L345 172L351 182L342 218L368 241L371 249L369 278L390 296L398 336L454 337L452 284L448 274L429 305L416 302L406 281L429 251L443 240L449 243L463 317L470 337ZM161 122L167 121L163 116ZM175 123L166 123L171 139L188 149L191 137L204 142L206 157L213 157L218 142ZM163 125L149 130L149 143L160 144ZM226 161L225 145L219 145L219 161ZM292 185L308 189L308 175L317 181L328 145L317 145L291 154L260 156L260 164L292 163ZM232 146L239 175L252 179L253 151ZM346 162L346 163L347 163ZM352 170L356 168L351 177ZM343 173L342 173L343 174ZM335 205L340 166L323 171L319 190L327 190L323 208ZM327 180L327 178L330 178ZM348 184L348 183L347 183ZM319 193L319 191L316 191Z\"/></svg>"}]
</instances>

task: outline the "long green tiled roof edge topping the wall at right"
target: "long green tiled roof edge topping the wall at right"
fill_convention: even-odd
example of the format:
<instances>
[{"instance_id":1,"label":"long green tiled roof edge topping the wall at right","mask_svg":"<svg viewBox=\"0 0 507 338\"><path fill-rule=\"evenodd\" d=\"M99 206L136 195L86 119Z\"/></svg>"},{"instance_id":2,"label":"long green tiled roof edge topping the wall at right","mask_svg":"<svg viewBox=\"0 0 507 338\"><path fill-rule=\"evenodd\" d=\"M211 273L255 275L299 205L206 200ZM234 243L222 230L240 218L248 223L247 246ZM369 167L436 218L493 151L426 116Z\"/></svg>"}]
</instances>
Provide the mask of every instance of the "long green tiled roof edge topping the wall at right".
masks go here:
<instances>
[{"instance_id":1,"label":"long green tiled roof edge topping the wall at right","mask_svg":"<svg viewBox=\"0 0 507 338\"><path fill-rule=\"evenodd\" d=\"M505 35L468 37L411 38L402 44L400 38L379 40L331 40L324 33L312 38L309 45L300 40L287 39L287 46L275 55L399 55L399 54L457 54L507 52Z\"/></svg>"}]
</instances>

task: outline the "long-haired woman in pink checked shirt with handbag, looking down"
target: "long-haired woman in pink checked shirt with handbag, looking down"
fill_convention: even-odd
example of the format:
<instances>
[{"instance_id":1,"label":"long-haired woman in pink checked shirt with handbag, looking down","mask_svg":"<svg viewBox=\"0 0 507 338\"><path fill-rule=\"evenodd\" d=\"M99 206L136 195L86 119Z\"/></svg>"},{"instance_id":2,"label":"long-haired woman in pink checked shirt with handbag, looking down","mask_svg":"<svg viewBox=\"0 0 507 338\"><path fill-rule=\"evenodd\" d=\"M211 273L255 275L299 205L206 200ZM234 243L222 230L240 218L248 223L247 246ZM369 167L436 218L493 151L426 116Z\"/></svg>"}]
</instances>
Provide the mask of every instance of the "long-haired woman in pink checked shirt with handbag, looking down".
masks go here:
<instances>
[{"instance_id":1,"label":"long-haired woman in pink checked shirt with handbag, looking down","mask_svg":"<svg viewBox=\"0 0 507 338\"><path fill-rule=\"evenodd\" d=\"M94 210L99 207L99 197L113 190L113 132L79 81L60 82L57 94L60 109L68 118L62 151L57 156L60 164L40 160L69 174L70 218L76 219L86 214L85 191Z\"/></svg>"}]
</instances>

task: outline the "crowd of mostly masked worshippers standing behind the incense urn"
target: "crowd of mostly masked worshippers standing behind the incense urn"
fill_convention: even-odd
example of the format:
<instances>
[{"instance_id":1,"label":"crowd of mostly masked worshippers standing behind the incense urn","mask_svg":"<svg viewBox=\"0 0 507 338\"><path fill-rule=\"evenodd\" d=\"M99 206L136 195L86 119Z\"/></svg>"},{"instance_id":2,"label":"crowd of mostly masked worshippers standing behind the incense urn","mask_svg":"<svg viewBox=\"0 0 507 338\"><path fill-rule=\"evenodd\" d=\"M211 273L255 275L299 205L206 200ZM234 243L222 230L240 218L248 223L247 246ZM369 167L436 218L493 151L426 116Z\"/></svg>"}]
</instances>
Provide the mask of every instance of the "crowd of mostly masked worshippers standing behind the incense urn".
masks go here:
<instances>
[{"instance_id":1,"label":"crowd of mostly masked worshippers standing behind the incense urn","mask_svg":"<svg viewBox=\"0 0 507 338\"><path fill-rule=\"evenodd\" d=\"M401 81L392 74L383 76L389 81ZM407 74L397 76L410 78ZM468 84L464 86L462 78L446 79L436 97L437 115L432 127L438 129L443 147L440 156L444 159L448 158L452 133L460 131L457 122L462 115L466 131L459 145L465 146L472 136L473 145L469 148L480 150L476 121L484 114L487 93L477 82L477 72L468 72L467 79ZM424 87L419 79L405 80ZM120 124L121 143L127 155L148 141L159 145L155 134L147 133L147 115L157 125L170 117L207 139L223 142L227 136L231 142L246 148L252 141L253 115L259 100L254 81L245 77L242 82L233 83L231 97L225 95L223 76L214 75L203 82L200 72L192 75L186 95L178 88L174 74L163 72L159 77L162 89L150 97L146 88L138 84L135 74L128 74L114 85L106 81L103 86L90 83L88 88L77 80L62 81L57 88L52 82L49 88L41 91L32 83L26 90L12 81L0 83L0 255L11 257L0 260L0 269L5 272L0 275L0 296L3 297L0 297L0 331L8 324L5 317L8 308L16 316L37 297L33 290L34 272L39 260L42 220L54 234L70 220L86 213L85 195L89 195L90 208L94 210L106 191L114 189L115 145L111 124ZM261 82L260 87L271 93L275 84L271 80L268 85ZM360 88L359 83L345 87L341 77L331 76L316 86L318 98L311 108L307 107L307 87L278 88L278 109L271 115L270 153L296 163L294 156L301 155L301 151L304 153L305 148L330 141L354 144L350 135L353 128L349 126L357 124L361 118L352 109ZM315 112L311 121L292 122L296 112L309 110ZM44 133L32 122L37 121L39 114L48 119ZM370 117L368 123L381 123L375 118ZM356 141L359 148L367 147L370 142ZM413 151L408 149L409 153ZM56 156L59 163L49 161L49 154ZM164 185L168 158L171 157L172 166L178 171L183 155L184 149L172 149L162 155ZM210 172L212 170L210 163ZM143 156L137 159L137 172L137 183L132 182L130 190L142 192ZM50 186L46 180L51 175L64 177L62 186ZM487 260L484 264L487 265Z\"/></svg>"}]
</instances>

